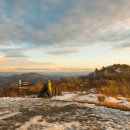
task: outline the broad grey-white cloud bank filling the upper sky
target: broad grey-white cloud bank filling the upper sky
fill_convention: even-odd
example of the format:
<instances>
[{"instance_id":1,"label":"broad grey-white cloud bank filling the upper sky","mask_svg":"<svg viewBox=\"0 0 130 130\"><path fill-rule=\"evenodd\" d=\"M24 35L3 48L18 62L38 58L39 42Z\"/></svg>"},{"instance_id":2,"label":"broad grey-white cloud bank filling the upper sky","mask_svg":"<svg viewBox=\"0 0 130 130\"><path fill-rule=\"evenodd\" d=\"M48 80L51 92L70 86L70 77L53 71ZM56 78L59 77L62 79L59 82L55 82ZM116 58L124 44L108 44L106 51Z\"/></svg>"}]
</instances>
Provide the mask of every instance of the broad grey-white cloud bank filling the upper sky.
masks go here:
<instances>
[{"instance_id":1,"label":"broad grey-white cloud bank filling the upper sky","mask_svg":"<svg viewBox=\"0 0 130 130\"><path fill-rule=\"evenodd\" d=\"M123 47L130 40L128 0L15 0L12 6L5 0L0 7L0 45L55 49L122 42Z\"/></svg>"}]
</instances>

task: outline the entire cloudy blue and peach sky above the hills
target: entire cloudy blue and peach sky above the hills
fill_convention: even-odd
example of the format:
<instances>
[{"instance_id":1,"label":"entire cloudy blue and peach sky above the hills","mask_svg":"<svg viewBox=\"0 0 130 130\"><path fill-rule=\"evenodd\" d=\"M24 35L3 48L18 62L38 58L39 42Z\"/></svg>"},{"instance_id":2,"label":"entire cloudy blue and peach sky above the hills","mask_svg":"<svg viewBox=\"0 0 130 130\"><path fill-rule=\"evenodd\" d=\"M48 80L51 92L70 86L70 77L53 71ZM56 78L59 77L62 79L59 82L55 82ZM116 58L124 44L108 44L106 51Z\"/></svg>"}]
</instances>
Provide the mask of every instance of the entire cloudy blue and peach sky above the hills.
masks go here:
<instances>
[{"instance_id":1,"label":"entire cloudy blue and peach sky above the hills","mask_svg":"<svg viewBox=\"0 0 130 130\"><path fill-rule=\"evenodd\" d=\"M129 0L0 0L0 72L130 64Z\"/></svg>"}]
</instances>

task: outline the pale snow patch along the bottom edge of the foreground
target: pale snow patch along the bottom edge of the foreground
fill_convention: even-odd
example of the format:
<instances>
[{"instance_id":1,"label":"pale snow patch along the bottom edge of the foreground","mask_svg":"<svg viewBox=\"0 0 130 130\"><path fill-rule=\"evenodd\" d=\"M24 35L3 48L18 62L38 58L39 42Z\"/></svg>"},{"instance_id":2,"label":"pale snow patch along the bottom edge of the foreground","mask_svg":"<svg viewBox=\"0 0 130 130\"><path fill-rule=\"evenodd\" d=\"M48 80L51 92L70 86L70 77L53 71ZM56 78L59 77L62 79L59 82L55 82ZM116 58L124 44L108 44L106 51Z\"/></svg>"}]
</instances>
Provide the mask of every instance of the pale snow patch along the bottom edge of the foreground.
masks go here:
<instances>
[{"instance_id":1,"label":"pale snow patch along the bottom edge of the foreground","mask_svg":"<svg viewBox=\"0 0 130 130\"><path fill-rule=\"evenodd\" d=\"M41 129L41 130L79 130L81 127L81 124L79 122L53 122L48 123L46 120L42 119L42 116L35 116L30 119L29 122L26 122L24 125L22 125L17 130L35 130L35 129Z\"/></svg>"}]
</instances>

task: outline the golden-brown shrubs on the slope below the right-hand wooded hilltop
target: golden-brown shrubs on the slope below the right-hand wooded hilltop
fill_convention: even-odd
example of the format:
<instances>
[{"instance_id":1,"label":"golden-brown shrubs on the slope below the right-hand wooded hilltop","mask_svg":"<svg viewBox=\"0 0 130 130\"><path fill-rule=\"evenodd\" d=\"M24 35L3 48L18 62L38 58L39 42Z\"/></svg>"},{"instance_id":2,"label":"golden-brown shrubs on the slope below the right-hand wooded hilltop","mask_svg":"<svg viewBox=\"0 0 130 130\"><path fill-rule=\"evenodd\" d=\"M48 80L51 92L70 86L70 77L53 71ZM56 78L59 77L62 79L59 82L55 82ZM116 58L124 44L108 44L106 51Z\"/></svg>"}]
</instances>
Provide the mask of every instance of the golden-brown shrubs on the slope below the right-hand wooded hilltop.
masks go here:
<instances>
[{"instance_id":1,"label":"golden-brown shrubs on the slope below the right-hand wooded hilltop","mask_svg":"<svg viewBox=\"0 0 130 130\"><path fill-rule=\"evenodd\" d=\"M105 95L130 97L130 74L98 72L97 77L88 80L88 88L92 87Z\"/></svg>"}]
</instances>

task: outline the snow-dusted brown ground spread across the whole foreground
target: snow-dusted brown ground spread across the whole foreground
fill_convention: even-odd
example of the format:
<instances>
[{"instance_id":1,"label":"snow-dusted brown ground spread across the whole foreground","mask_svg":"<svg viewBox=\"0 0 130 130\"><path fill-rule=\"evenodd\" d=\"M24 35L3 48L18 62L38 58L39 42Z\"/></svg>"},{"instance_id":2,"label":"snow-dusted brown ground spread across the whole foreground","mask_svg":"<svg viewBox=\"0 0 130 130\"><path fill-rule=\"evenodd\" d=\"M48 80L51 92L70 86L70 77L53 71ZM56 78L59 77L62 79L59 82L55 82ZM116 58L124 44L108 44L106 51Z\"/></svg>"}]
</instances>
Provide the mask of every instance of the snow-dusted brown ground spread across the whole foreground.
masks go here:
<instances>
[{"instance_id":1,"label":"snow-dusted brown ground spread across the whole foreground","mask_svg":"<svg viewBox=\"0 0 130 130\"><path fill-rule=\"evenodd\" d=\"M52 99L0 98L0 130L129 130L130 112L78 102L97 102L97 96L75 92Z\"/></svg>"}]
</instances>

